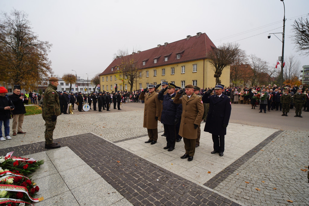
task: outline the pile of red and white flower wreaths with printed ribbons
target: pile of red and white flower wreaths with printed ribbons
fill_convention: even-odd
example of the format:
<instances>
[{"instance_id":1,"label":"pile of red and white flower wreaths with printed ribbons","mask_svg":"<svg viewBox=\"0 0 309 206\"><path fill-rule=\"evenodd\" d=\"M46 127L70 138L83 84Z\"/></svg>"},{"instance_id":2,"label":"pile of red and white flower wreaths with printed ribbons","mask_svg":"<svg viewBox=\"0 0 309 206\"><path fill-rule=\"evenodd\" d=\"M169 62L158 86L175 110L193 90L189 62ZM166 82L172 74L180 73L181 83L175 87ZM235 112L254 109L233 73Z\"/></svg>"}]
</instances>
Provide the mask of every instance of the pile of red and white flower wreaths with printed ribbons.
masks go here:
<instances>
[{"instance_id":1,"label":"pile of red and white flower wreaths with printed ribbons","mask_svg":"<svg viewBox=\"0 0 309 206\"><path fill-rule=\"evenodd\" d=\"M39 202L44 200L43 197L31 197L40 188L31 178L26 176L44 164L44 161L15 157L12 154L13 152L9 152L4 157L0 156L0 204L16 206L28 203L33 205L29 201Z\"/></svg>"}]
</instances>

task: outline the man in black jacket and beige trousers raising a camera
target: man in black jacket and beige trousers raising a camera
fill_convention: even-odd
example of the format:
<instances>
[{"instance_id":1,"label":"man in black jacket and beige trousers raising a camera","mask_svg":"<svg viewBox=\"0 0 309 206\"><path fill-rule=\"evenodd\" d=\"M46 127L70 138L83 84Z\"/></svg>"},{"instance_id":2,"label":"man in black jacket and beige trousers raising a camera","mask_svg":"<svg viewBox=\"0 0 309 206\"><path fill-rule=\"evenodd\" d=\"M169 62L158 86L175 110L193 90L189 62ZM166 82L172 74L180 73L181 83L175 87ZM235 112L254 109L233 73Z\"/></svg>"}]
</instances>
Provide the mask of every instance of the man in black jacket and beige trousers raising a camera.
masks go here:
<instances>
[{"instance_id":1,"label":"man in black jacket and beige trousers raising a camera","mask_svg":"<svg viewBox=\"0 0 309 206\"><path fill-rule=\"evenodd\" d=\"M12 111L13 114L13 125L12 125L12 130L13 130L13 136L16 136L17 134L25 134L26 132L22 131L22 126L23 126L23 118L25 117L26 114L26 108L24 106L24 100L28 100L28 98L24 98L23 95L20 94L20 87L14 88L13 94L9 96L11 99L12 103L15 106L14 111ZM17 130L16 130L17 128Z\"/></svg>"}]
</instances>

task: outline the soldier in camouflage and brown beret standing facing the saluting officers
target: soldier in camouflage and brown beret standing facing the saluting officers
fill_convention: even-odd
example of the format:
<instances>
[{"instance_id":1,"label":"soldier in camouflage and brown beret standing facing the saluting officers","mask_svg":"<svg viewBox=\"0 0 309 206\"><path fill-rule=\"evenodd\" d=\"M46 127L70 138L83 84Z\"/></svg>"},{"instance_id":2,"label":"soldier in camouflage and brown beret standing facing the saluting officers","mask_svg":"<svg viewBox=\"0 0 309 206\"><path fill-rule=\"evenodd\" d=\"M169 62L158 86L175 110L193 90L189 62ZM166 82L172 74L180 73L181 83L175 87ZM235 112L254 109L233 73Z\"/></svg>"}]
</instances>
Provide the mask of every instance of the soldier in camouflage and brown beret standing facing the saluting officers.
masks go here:
<instances>
[{"instance_id":1,"label":"soldier in camouflage and brown beret standing facing the saluting officers","mask_svg":"<svg viewBox=\"0 0 309 206\"><path fill-rule=\"evenodd\" d=\"M53 132L57 123L57 116L61 114L59 97L57 94L58 79L51 77L49 85L45 89L43 98L42 117L45 121L45 148L54 149L61 147L58 143L53 143Z\"/></svg>"}]
</instances>

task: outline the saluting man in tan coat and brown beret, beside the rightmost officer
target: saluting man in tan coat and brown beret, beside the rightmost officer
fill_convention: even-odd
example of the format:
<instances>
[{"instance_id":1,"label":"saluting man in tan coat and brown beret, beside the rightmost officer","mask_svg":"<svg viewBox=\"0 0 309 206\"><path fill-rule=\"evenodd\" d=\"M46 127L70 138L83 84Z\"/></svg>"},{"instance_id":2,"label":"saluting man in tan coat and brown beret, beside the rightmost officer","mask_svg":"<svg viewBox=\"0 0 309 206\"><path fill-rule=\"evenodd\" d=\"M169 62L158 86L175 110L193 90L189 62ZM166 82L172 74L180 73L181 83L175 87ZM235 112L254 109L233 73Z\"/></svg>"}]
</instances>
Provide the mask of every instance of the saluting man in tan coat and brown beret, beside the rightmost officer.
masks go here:
<instances>
[{"instance_id":1,"label":"saluting man in tan coat and brown beret, beside the rightmost officer","mask_svg":"<svg viewBox=\"0 0 309 206\"><path fill-rule=\"evenodd\" d=\"M188 158L188 161L193 160L197 139L197 128L201 124L204 113L202 97L194 94L193 88L194 86L192 84L187 84L185 86L186 95L180 98L183 92L183 90L180 90L174 98L174 103L182 104L179 135L184 138L184 149L186 153L180 158Z\"/></svg>"}]
</instances>

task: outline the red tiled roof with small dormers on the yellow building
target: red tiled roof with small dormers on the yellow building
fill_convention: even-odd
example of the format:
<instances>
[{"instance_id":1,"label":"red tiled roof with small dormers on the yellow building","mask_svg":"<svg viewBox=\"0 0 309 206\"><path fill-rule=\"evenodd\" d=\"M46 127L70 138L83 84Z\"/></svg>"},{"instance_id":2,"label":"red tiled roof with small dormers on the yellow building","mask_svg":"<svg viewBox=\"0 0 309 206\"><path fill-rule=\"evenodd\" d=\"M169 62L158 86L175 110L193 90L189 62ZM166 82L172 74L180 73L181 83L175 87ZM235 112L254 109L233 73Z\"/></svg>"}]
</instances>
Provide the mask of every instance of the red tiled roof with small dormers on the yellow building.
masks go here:
<instances>
[{"instance_id":1,"label":"red tiled roof with small dormers on the yellow building","mask_svg":"<svg viewBox=\"0 0 309 206\"><path fill-rule=\"evenodd\" d=\"M215 48L216 46L209 39L206 33L202 33L200 36L192 36L190 39L175 41L167 44L166 46L162 45L141 51L139 53L130 54L125 57L116 58L100 75L114 73L112 68L121 65L122 60L125 58L132 59L134 57L134 61L138 61L138 67L140 69L146 69L180 62L188 62L197 59L205 59L207 58L206 53L210 51L212 47ZM181 58L177 59L176 54L179 54L180 51L183 51L182 56ZM164 58L159 58L160 56L166 56L166 54L170 54L168 61L164 61ZM153 61L155 58L158 58L157 63L154 63ZM146 61L145 65L143 65L143 61Z\"/></svg>"}]
</instances>

